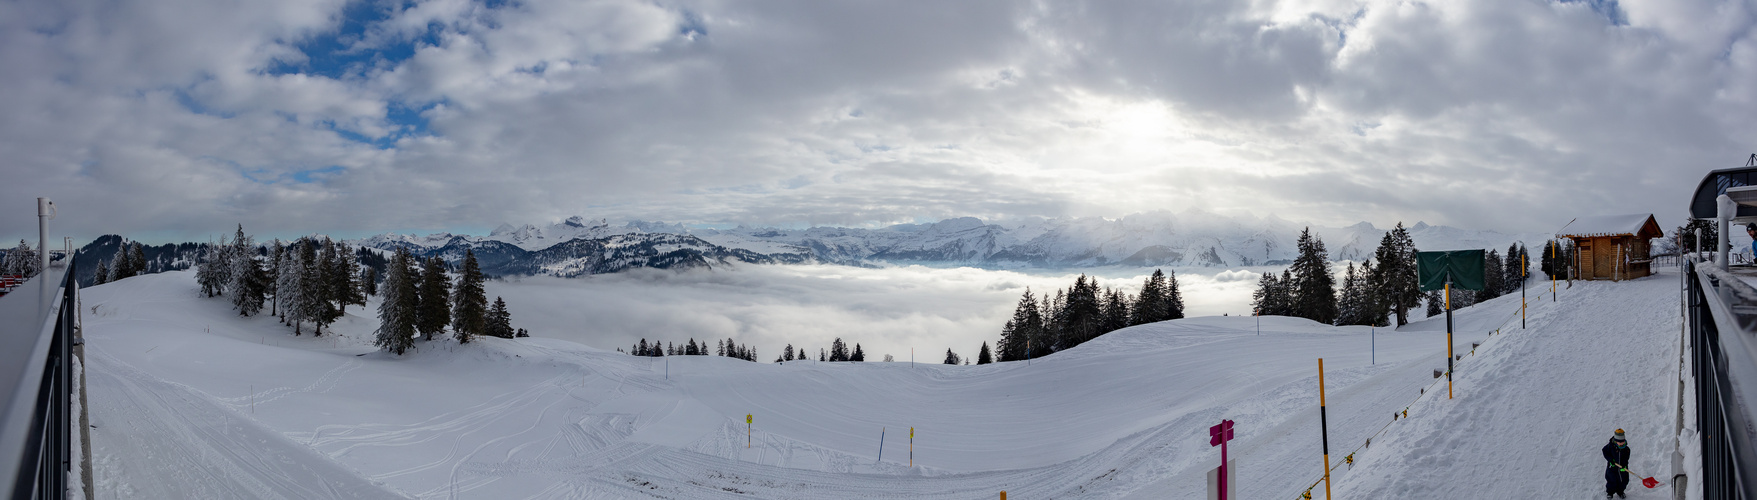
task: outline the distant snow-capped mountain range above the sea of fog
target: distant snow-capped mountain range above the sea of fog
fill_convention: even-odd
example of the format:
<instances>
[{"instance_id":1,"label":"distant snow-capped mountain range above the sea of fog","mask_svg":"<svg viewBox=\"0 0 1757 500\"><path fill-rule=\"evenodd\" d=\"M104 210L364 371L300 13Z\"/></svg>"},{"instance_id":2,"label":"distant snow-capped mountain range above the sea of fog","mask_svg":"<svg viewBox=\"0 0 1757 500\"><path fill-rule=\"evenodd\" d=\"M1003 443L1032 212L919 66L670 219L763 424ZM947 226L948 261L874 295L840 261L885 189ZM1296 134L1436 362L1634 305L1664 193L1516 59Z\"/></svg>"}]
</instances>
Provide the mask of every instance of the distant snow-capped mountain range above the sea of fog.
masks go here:
<instances>
[{"instance_id":1,"label":"distant snow-capped mountain range above the sea of fog","mask_svg":"<svg viewBox=\"0 0 1757 500\"><path fill-rule=\"evenodd\" d=\"M712 267L745 263L970 265L986 268L1058 267L1251 267L1293 260L1309 225L1269 218L1232 218L1204 211L1147 212L1121 219L1056 218L1019 221L944 219L886 228L805 230L687 228L633 221L610 225L580 216L548 226L501 225L487 237L383 233L355 240L362 247L408 247L416 254L460 260L474 249L490 274L582 275L631 267ZM1363 260L1388 228L1358 223L1311 226L1332 260ZM1476 232L1416 223L1407 226L1420 249L1500 249L1523 240L1541 246L1546 233Z\"/></svg>"}]
</instances>

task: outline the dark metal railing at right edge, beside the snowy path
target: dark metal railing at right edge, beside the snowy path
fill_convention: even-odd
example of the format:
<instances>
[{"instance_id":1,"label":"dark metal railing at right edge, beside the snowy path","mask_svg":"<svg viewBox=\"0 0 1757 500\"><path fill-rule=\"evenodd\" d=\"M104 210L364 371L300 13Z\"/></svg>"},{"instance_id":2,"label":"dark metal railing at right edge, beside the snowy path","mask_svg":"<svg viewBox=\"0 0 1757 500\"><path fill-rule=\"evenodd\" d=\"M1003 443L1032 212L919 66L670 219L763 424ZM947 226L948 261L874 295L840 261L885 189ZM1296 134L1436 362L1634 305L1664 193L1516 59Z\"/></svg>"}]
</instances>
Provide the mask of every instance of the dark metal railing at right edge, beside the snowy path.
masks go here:
<instances>
[{"instance_id":1,"label":"dark metal railing at right edge, beside the snowy path","mask_svg":"<svg viewBox=\"0 0 1757 500\"><path fill-rule=\"evenodd\" d=\"M1703 498L1757 500L1757 289L1683 261L1685 326L1703 440Z\"/></svg>"}]
</instances>

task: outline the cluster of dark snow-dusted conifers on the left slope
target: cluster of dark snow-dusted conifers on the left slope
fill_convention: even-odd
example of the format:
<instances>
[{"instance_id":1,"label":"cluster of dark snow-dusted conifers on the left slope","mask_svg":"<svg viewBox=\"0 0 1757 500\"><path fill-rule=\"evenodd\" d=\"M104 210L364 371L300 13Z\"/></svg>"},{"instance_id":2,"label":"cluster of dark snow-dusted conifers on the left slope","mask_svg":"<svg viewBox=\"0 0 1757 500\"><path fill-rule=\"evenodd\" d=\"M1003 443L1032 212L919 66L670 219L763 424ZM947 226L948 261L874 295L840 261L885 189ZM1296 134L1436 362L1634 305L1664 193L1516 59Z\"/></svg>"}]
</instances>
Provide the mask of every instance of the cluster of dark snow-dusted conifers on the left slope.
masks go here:
<instances>
[{"instance_id":1,"label":"cluster of dark snow-dusted conifers on the left slope","mask_svg":"<svg viewBox=\"0 0 1757 500\"><path fill-rule=\"evenodd\" d=\"M114 268L132 268L127 263L132 253L118 253ZM474 251L466 251L455 279L446 275L448 267L439 256L422 260L397 249L383 261L380 277L374 267L360 265L362 254L371 253L357 253L329 237L285 244L276 239L257 246L239 225L230 242L221 237L220 244L202 247L195 281L206 296L230 296L239 316L257 316L269 307L269 314L292 326L293 335L302 335L304 325L311 323L313 337L322 337L323 326L343 318L348 305L365 307L369 296L383 295L374 346L399 356L415 346L416 335L434 340L446 326L459 344L478 335L529 337L524 328L511 326L506 300L495 296L488 305L487 277Z\"/></svg>"}]
</instances>

